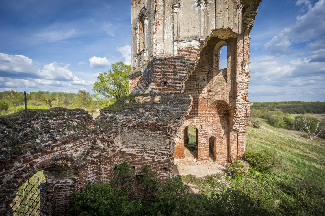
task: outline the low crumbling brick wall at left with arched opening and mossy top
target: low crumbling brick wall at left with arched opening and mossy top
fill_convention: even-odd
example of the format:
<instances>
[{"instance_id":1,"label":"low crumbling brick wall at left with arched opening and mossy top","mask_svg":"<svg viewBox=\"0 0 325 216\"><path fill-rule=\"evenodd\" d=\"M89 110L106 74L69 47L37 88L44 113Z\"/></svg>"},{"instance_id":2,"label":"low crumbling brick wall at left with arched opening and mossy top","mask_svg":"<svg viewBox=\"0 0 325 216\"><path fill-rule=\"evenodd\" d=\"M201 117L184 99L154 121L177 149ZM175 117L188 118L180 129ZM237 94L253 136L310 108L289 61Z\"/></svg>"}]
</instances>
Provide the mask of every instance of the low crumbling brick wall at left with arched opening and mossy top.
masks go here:
<instances>
[{"instance_id":1,"label":"low crumbling brick wall at left with arched opening and mossy top","mask_svg":"<svg viewBox=\"0 0 325 216\"><path fill-rule=\"evenodd\" d=\"M29 123L17 140L23 123L16 121L23 116L22 111L0 118L0 211L12 214L10 203L18 188L44 170L48 184L52 185L49 215L69 215L73 192L86 185L90 144L87 131L93 126L93 118L81 109L29 110ZM64 172L66 176L61 175Z\"/></svg>"}]
</instances>

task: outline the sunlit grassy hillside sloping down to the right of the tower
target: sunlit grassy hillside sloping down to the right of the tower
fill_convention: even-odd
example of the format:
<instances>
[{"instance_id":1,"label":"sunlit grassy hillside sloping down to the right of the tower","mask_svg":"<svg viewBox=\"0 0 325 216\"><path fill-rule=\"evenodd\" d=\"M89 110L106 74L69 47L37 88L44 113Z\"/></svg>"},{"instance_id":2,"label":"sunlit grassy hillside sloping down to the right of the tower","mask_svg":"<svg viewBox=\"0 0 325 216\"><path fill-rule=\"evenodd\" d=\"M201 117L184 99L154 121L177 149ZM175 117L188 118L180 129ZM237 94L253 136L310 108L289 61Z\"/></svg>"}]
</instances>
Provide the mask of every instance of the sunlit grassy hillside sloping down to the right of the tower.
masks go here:
<instances>
[{"instance_id":1,"label":"sunlit grassy hillside sloping down to the right of the tower","mask_svg":"<svg viewBox=\"0 0 325 216\"><path fill-rule=\"evenodd\" d=\"M299 179L310 177L325 186L325 145L323 139L314 141L299 132L273 128L262 123L261 128L247 127L246 149L270 149L281 159L281 171Z\"/></svg>"}]
</instances>

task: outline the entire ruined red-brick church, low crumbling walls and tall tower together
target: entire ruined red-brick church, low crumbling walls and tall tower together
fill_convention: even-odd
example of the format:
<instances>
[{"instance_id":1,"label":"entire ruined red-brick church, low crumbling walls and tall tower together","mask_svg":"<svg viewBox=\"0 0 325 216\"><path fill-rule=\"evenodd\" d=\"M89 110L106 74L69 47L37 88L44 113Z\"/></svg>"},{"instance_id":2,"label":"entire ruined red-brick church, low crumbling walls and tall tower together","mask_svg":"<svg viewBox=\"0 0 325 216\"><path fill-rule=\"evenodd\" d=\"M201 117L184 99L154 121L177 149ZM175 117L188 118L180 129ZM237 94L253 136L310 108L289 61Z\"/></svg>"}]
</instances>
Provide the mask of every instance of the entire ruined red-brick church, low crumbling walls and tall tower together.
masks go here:
<instances>
[{"instance_id":1,"label":"entire ruined red-brick church, low crumbling walls and tall tower together","mask_svg":"<svg viewBox=\"0 0 325 216\"><path fill-rule=\"evenodd\" d=\"M84 110L30 110L16 141L24 120L0 118L1 214L12 214L19 186L41 170L49 188L43 215L69 215L72 194L87 182L112 181L123 161L136 175L149 164L169 178L174 159L184 158L189 125L196 127L199 161L209 152L230 162L242 155L250 32L260 2L132 0L129 97L95 121Z\"/></svg>"}]
</instances>

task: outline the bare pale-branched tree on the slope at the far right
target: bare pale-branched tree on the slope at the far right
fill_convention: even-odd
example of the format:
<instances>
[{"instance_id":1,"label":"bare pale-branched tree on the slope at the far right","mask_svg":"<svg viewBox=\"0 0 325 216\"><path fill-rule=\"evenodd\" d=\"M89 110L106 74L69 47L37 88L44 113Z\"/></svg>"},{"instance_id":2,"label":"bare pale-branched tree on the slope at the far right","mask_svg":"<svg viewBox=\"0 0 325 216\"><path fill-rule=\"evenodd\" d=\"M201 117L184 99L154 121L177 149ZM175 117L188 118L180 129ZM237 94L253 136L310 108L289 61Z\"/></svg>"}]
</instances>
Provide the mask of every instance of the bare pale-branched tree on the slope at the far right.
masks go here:
<instances>
[{"instance_id":1,"label":"bare pale-branched tree on the slope at the far right","mask_svg":"<svg viewBox=\"0 0 325 216\"><path fill-rule=\"evenodd\" d=\"M324 118L318 119L310 115L300 115L296 116L295 119L297 128L306 133L309 140L314 140L325 127Z\"/></svg>"}]
</instances>

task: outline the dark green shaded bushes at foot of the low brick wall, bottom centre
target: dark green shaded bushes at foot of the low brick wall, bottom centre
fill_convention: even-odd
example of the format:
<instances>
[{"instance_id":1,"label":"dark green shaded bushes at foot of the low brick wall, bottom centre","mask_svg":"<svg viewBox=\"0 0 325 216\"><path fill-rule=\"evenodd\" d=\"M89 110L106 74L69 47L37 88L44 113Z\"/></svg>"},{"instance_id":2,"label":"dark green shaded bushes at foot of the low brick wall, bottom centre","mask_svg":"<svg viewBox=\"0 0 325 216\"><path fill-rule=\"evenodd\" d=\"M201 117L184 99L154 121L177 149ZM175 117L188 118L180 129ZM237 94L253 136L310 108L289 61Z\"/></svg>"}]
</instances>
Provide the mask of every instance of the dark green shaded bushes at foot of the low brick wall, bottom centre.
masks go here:
<instances>
[{"instance_id":1,"label":"dark green shaded bushes at foot of the low brick wall, bottom centre","mask_svg":"<svg viewBox=\"0 0 325 216\"><path fill-rule=\"evenodd\" d=\"M201 202L190 194L180 177L167 181L158 180L149 165L142 167L142 175L136 177L140 188L138 196L128 197L131 187L125 187L132 179L134 172L131 164L123 162L115 167L117 188L110 183L88 185L83 192L76 192L72 198L71 211L82 216L110 215L205 215ZM128 190L128 191L126 191Z\"/></svg>"}]
</instances>

